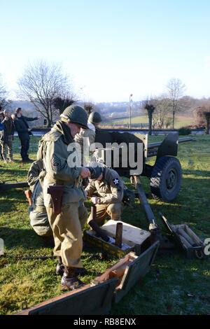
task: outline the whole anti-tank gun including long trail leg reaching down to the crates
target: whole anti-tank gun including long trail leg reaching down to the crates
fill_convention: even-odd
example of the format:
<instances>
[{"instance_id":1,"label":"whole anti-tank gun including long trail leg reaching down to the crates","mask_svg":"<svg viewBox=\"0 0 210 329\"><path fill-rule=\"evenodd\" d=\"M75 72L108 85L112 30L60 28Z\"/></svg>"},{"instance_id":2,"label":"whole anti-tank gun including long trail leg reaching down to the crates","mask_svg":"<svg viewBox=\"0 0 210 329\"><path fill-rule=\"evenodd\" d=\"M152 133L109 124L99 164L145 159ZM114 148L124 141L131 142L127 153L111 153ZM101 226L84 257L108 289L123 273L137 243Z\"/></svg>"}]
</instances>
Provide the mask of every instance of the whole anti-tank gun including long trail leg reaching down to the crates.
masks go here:
<instances>
[{"instance_id":1,"label":"whole anti-tank gun including long trail leg reaching down to the crates","mask_svg":"<svg viewBox=\"0 0 210 329\"><path fill-rule=\"evenodd\" d=\"M104 148L98 150L101 160L107 164L106 160L108 156L110 158L110 154L112 153L111 161L109 159L109 162L111 162L110 167L115 169L120 176L130 178L137 190L135 196L139 197L141 205L146 212L153 241L159 240L160 247L162 248L170 248L172 244L170 244L169 240L160 232L153 210L148 203L146 193L144 193L144 188L141 185L140 176L146 176L150 179L151 193L154 198L158 198L165 202L174 200L181 188L182 177L181 164L176 158L178 143L190 140L192 139L189 137L179 139L178 133L170 133L162 142L148 144L147 135L141 135L141 138L138 138L127 132L120 133L97 130L95 142L104 146ZM124 143L124 150L122 143ZM132 149L129 148L130 144L132 144ZM108 148L107 145L109 146ZM141 145L142 150L140 159L138 158L138 145ZM126 148L126 146L128 147ZM118 166L115 165L114 152L116 148L118 148ZM127 166L125 166L123 159L123 156L126 155L125 150L127 151L127 159L134 157L134 162L137 162L137 167L130 167L130 162L127 162ZM132 155L130 154L131 150ZM153 156L156 156L155 164L148 165L146 160ZM141 168L140 172L138 172L138 161L141 162L141 166L139 166ZM131 174L131 170L134 174ZM137 170L137 174L135 170Z\"/></svg>"}]
</instances>

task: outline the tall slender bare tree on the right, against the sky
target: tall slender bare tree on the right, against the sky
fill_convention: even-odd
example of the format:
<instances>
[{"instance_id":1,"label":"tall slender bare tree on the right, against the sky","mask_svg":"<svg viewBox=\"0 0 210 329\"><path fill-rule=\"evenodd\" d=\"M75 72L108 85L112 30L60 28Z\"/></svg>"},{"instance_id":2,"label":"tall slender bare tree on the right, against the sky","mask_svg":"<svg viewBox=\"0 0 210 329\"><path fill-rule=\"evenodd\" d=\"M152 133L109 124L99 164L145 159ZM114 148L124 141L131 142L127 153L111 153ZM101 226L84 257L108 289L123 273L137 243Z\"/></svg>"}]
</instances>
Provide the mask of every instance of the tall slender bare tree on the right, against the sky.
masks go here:
<instances>
[{"instance_id":1,"label":"tall slender bare tree on the right, against the sky","mask_svg":"<svg viewBox=\"0 0 210 329\"><path fill-rule=\"evenodd\" d=\"M172 78L167 83L167 92L172 109L172 127L174 129L175 115L181 110L180 99L186 90L186 85L178 78Z\"/></svg>"}]
</instances>

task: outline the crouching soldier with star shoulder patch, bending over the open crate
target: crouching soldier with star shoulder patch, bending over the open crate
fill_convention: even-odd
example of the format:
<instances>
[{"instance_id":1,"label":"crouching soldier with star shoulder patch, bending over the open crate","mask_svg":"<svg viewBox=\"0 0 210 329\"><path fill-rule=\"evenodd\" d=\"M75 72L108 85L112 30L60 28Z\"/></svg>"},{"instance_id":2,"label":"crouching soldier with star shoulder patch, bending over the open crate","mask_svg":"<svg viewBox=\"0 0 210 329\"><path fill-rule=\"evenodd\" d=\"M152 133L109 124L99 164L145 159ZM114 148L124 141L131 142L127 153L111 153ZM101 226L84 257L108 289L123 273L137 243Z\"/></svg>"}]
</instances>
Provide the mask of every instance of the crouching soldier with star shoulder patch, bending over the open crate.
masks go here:
<instances>
[{"instance_id":1,"label":"crouching soldier with star shoulder patch, bending over the open crate","mask_svg":"<svg viewBox=\"0 0 210 329\"><path fill-rule=\"evenodd\" d=\"M98 225L104 224L104 218L107 214L114 221L120 221L124 182L115 170L94 167L91 181L85 191L87 197L91 197L91 201L97 207L97 214L94 219ZM91 219L90 215L87 223Z\"/></svg>"}]
</instances>

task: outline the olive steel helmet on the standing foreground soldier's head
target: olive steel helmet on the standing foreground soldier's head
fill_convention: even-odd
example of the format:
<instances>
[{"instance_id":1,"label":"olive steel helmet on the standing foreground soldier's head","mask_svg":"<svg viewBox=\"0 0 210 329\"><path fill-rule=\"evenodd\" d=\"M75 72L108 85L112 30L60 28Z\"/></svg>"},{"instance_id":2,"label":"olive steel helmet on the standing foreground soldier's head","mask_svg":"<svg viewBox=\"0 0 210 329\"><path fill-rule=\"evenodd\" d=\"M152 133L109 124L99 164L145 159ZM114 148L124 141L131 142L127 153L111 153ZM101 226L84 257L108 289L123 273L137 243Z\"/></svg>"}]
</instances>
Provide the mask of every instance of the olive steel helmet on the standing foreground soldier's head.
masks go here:
<instances>
[{"instance_id":1,"label":"olive steel helmet on the standing foreground soldier's head","mask_svg":"<svg viewBox=\"0 0 210 329\"><path fill-rule=\"evenodd\" d=\"M60 119L68 123L77 123L83 129L88 129L87 127L87 112L83 107L78 105L71 105L64 109L63 113L59 116Z\"/></svg>"}]
</instances>

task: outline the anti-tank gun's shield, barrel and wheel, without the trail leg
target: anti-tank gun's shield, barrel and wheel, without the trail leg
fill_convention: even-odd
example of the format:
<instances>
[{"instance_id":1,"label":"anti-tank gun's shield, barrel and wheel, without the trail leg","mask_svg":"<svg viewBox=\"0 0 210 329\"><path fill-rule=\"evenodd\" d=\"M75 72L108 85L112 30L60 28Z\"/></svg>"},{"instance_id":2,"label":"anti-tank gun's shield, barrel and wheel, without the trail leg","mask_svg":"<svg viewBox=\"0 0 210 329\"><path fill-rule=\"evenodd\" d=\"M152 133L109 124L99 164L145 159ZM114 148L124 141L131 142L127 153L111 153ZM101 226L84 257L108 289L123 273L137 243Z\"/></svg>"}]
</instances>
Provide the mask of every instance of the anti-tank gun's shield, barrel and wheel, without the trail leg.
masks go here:
<instances>
[{"instance_id":1,"label":"anti-tank gun's shield, barrel and wheel, without the trail leg","mask_svg":"<svg viewBox=\"0 0 210 329\"><path fill-rule=\"evenodd\" d=\"M179 139L178 133L170 133L165 137L162 142L156 142L148 144L147 135L141 134L141 138L138 138L134 134L129 132L108 132L106 130L97 130L95 142L102 144L104 148L98 150L100 153L99 157L104 163L107 163L108 154L111 152L111 164L108 167L112 167L118 172L120 176L131 178L131 170L135 171L137 167L130 167L130 162L127 162L127 166L123 166L123 156L125 155L123 147L120 147L122 143L127 146L127 159L130 159L129 147L131 144L132 155L134 154L133 163L138 160L141 162L142 171L141 174L137 176L146 176L150 179L151 193L153 197L159 198L165 202L171 202L175 199L176 195L179 193L181 188L181 164L179 159L176 158L178 153L178 143L183 143L186 141L191 141L191 137L185 137ZM143 152L141 153L141 158L137 157L137 145L141 144ZM112 145L111 148L107 148L107 145ZM119 162L116 166L115 155L116 148L119 148ZM154 165L148 165L146 160L148 158L156 156ZM124 161L125 162L125 161Z\"/></svg>"}]
</instances>

